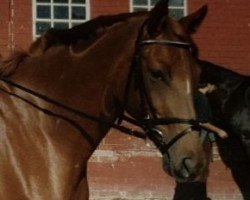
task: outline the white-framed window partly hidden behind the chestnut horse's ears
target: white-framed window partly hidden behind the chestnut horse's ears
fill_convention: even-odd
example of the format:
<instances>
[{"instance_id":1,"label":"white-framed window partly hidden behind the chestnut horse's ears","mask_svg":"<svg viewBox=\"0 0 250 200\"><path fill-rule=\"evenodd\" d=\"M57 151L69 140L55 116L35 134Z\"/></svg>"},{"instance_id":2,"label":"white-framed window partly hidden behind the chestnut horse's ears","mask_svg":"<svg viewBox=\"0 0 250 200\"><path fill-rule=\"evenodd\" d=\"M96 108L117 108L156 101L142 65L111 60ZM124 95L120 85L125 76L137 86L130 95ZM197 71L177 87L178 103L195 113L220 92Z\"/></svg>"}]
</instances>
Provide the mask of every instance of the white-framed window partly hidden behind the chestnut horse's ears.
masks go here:
<instances>
[{"instance_id":1,"label":"white-framed window partly hidden behind the chestnut horse's ears","mask_svg":"<svg viewBox=\"0 0 250 200\"><path fill-rule=\"evenodd\" d=\"M130 0L130 10L151 10L160 0ZM175 19L180 19L187 14L187 0L169 0L169 13Z\"/></svg>"}]
</instances>

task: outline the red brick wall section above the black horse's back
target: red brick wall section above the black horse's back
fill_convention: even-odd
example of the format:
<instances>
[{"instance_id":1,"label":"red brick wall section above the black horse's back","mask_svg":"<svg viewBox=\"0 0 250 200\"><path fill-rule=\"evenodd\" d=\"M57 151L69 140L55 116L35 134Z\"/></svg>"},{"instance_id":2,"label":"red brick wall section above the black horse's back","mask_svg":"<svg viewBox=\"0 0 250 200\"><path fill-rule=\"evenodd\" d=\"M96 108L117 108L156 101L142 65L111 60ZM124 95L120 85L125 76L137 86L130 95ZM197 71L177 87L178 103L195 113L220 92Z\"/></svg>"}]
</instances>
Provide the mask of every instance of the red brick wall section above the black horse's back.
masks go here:
<instances>
[{"instance_id":1,"label":"red brick wall section above the black horse's back","mask_svg":"<svg viewBox=\"0 0 250 200\"><path fill-rule=\"evenodd\" d=\"M207 18L195 36L201 58L250 74L250 1L195 0L189 10L209 6Z\"/></svg>"}]
</instances>

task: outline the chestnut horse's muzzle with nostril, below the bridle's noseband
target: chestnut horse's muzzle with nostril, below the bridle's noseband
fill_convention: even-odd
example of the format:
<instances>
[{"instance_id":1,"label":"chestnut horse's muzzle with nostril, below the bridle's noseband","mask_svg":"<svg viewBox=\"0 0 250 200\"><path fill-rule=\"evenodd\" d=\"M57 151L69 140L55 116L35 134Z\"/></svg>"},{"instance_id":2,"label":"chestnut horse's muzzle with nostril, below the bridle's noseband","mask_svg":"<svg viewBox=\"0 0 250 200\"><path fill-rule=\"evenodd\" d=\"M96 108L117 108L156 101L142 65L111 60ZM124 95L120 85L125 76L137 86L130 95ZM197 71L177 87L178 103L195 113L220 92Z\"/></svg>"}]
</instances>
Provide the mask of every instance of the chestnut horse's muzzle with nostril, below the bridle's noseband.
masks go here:
<instances>
[{"instance_id":1,"label":"chestnut horse's muzzle with nostril, below the bridle's noseband","mask_svg":"<svg viewBox=\"0 0 250 200\"><path fill-rule=\"evenodd\" d=\"M163 155L164 171L173 176L178 182L194 181L203 174L206 168L205 153L200 155L202 152L202 142L200 139L197 138L197 144L192 141L192 144L194 144L193 146L184 145L185 142L182 143L181 140L184 136L199 137L198 132L194 131L195 129L190 126L176 134L168 143L164 142L163 133L160 130L154 128L147 132L147 136L154 142ZM181 153L173 155L172 148L179 149ZM180 150L180 148L183 150Z\"/></svg>"}]
</instances>

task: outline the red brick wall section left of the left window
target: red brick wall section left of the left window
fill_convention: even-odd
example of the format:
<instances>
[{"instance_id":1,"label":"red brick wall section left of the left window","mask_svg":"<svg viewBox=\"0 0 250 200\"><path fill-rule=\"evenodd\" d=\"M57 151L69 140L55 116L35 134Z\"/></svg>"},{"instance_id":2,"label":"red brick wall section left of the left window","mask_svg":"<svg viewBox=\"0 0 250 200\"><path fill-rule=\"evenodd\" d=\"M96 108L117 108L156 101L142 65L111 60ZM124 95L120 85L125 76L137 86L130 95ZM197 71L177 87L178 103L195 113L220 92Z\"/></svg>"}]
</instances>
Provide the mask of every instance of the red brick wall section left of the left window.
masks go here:
<instances>
[{"instance_id":1,"label":"red brick wall section left of the left window","mask_svg":"<svg viewBox=\"0 0 250 200\"><path fill-rule=\"evenodd\" d=\"M31 0L1 0L0 53L9 54L14 48L27 49L32 40Z\"/></svg>"}]
</instances>

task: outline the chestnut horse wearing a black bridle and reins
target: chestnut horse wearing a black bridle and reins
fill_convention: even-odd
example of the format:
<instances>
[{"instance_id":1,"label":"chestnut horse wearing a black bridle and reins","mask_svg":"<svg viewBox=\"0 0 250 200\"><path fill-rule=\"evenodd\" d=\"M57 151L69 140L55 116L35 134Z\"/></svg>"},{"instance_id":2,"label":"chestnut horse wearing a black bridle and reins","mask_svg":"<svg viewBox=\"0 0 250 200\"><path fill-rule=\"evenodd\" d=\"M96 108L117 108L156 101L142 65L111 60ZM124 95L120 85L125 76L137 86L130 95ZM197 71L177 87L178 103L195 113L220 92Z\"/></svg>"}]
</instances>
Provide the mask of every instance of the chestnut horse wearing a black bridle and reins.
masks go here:
<instances>
[{"instance_id":1,"label":"chestnut horse wearing a black bridle and reins","mask_svg":"<svg viewBox=\"0 0 250 200\"><path fill-rule=\"evenodd\" d=\"M177 22L167 6L51 30L0 63L0 199L88 199L87 161L124 111L176 180L206 177L190 51L206 7Z\"/></svg>"}]
</instances>

